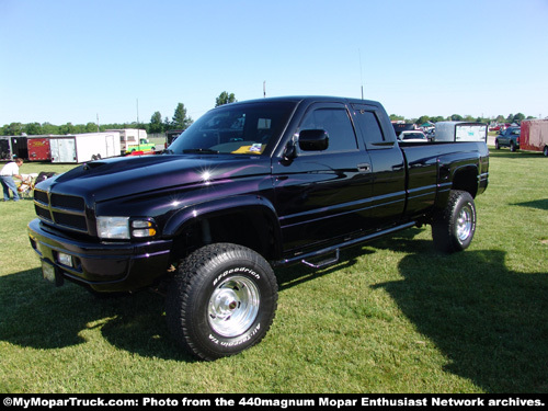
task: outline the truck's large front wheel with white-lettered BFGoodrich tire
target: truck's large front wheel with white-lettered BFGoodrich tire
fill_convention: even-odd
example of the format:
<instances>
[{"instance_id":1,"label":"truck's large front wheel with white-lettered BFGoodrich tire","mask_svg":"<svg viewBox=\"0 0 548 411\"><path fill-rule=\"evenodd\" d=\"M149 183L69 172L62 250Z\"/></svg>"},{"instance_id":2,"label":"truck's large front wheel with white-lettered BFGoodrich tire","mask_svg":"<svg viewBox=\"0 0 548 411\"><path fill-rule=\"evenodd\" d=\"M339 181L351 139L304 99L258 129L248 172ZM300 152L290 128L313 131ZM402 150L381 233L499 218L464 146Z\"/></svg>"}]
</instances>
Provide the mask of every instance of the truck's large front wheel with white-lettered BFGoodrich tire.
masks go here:
<instances>
[{"instance_id":1,"label":"truck's large front wheel with white-lettered BFGoodrich tire","mask_svg":"<svg viewBox=\"0 0 548 411\"><path fill-rule=\"evenodd\" d=\"M186 351L213 361L259 343L276 307L277 283L270 264L248 248L217 243L181 262L165 315Z\"/></svg>"}]
</instances>

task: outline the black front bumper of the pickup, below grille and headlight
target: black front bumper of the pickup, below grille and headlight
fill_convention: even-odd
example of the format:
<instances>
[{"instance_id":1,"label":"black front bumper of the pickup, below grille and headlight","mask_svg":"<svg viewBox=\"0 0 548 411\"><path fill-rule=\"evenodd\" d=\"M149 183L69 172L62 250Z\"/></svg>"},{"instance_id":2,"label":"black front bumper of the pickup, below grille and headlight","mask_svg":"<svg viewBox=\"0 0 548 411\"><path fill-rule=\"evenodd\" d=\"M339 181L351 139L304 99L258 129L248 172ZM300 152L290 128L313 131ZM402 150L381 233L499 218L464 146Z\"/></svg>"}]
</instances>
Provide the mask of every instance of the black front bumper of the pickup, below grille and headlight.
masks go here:
<instances>
[{"instance_id":1,"label":"black front bumper of the pickup, below grille and headlight","mask_svg":"<svg viewBox=\"0 0 548 411\"><path fill-rule=\"evenodd\" d=\"M134 292L155 284L170 264L171 240L77 240L37 218L28 224L28 236L46 271L55 273L57 285L69 279L101 293Z\"/></svg>"}]
</instances>

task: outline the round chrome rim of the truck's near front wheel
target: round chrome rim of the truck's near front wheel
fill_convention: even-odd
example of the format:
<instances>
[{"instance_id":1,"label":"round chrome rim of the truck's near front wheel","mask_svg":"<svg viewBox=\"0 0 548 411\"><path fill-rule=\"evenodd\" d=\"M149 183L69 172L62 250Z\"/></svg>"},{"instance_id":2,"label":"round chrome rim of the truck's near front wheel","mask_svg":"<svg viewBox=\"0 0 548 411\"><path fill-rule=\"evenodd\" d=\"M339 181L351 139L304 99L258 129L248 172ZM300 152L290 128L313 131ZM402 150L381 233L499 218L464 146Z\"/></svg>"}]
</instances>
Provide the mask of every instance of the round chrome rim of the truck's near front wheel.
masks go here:
<instances>
[{"instance_id":1,"label":"round chrome rim of the truck's near front wheel","mask_svg":"<svg viewBox=\"0 0 548 411\"><path fill-rule=\"evenodd\" d=\"M214 289L209 298L209 326L226 338L241 335L255 321L260 305L259 288L251 279L229 277Z\"/></svg>"}]
</instances>

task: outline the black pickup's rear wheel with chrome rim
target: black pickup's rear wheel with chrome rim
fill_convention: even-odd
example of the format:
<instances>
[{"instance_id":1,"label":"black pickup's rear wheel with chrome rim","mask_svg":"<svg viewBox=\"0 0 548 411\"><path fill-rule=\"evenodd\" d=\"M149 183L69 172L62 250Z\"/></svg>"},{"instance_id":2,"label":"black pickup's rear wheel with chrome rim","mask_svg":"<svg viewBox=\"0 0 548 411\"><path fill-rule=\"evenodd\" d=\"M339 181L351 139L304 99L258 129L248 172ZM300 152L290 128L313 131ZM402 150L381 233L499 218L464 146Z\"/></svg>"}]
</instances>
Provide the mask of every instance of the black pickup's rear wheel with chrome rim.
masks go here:
<instances>
[{"instance_id":1,"label":"black pickup's rear wheel with chrome rim","mask_svg":"<svg viewBox=\"0 0 548 411\"><path fill-rule=\"evenodd\" d=\"M476 232L476 205L470 193L454 190L445 209L432 222L432 238L439 251L463 251Z\"/></svg>"}]
</instances>

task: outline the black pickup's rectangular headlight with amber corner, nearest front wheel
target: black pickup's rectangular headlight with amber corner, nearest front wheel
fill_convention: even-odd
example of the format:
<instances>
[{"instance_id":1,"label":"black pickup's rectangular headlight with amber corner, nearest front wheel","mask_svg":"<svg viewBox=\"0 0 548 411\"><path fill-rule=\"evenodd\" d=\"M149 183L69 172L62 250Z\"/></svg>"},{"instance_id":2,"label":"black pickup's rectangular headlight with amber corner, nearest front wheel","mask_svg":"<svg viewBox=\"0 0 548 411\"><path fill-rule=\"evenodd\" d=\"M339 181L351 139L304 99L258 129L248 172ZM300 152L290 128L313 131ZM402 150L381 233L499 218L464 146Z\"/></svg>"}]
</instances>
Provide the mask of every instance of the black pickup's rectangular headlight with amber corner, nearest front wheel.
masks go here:
<instances>
[{"instance_id":1,"label":"black pickup's rectangular headlight with amber corner, nearest front wheel","mask_svg":"<svg viewBox=\"0 0 548 411\"><path fill-rule=\"evenodd\" d=\"M151 218L98 217L98 236L110 240L155 237L156 222Z\"/></svg>"}]
</instances>

